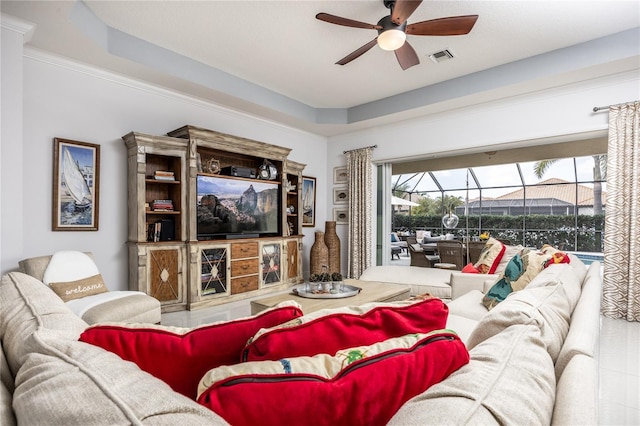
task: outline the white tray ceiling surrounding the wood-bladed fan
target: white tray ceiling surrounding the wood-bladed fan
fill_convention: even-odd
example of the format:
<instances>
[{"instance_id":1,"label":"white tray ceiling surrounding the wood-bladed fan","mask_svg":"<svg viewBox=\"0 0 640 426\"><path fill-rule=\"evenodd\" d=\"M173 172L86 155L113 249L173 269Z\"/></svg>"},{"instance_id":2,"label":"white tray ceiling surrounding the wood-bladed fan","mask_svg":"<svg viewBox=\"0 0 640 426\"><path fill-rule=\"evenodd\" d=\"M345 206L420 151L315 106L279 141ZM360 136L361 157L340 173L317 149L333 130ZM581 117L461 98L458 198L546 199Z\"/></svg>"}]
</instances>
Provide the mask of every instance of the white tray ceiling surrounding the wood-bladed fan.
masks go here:
<instances>
[{"instance_id":1,"label":"white tray ceiling surrounding the wood-bladed fan","mask_svg":"<svg viewBox=\"0 0 640 426\"><path fill-rule=\"evenodd\" d=\"M409 23L479 19L464 36L409 35L421 63L406 71L378 47L335 65L376 32L315 19L326 12L375 24L389 13L382 0L3 0L1 7L36 24L29 45L37 49L325 135L503 96L501 90L640 68L637 0L426 0ZM629 29L635 31L622 33ZM428 58L445 48L454 59Z\"/></svg>"}]
</instances>

